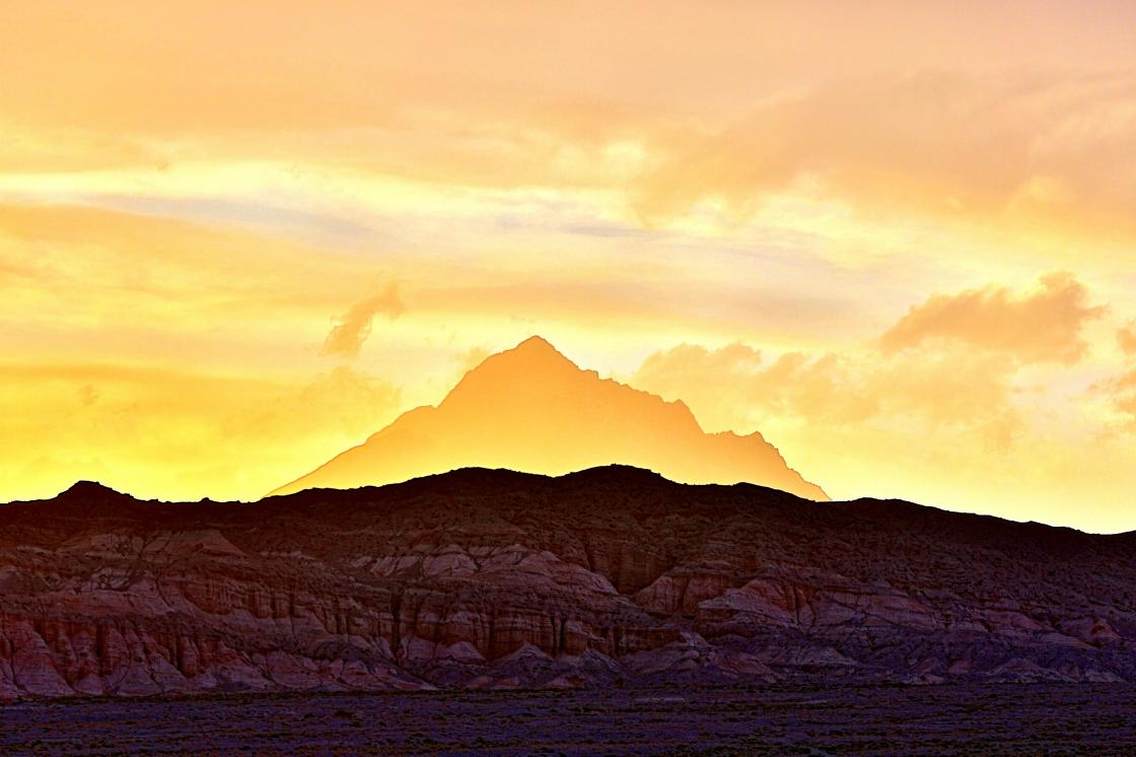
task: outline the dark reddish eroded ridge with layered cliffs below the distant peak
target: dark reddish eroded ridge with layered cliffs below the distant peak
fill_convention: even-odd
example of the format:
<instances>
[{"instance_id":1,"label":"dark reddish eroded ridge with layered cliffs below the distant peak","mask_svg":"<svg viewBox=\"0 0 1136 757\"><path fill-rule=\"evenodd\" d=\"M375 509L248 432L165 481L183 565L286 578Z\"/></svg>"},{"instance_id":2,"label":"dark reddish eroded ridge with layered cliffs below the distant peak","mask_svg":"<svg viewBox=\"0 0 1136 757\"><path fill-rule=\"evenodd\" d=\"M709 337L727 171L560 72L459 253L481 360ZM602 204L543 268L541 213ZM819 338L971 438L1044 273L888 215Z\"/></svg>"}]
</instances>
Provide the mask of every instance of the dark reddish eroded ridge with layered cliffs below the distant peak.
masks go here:
<instances>
[{"instance_id":1,"label":"dark reddish eroded ridge with layered cliffs below the distant peak","mask_svg":"<svg viewBox=\"0 0 1136 757\"><path fill-rule=\"evenodd\" d=\"M0 698L1136 680L1136 538L608 467L0 506Z\"/></svg>"}]
</instances>

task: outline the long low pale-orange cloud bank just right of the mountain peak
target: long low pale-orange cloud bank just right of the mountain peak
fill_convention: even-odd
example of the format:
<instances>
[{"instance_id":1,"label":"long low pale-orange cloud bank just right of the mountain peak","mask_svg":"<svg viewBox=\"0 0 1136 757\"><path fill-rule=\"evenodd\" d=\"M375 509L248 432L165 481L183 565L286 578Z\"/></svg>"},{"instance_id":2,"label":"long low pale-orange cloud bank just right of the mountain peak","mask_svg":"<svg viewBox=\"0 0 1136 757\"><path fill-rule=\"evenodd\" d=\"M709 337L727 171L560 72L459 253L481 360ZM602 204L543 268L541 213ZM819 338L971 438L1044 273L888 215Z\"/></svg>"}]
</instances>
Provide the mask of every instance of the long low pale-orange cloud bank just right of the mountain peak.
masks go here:
<instances>
[{"instance_id":1,"label":"long low pale-orange cloud bank just right of the mountain peak","mask_svg":"<svg viewBox=\"0 0 1136 757\"><path fill-rule=\"evenodd\" d=\"M1012 369L1003 356L957 346L891 357L850 350L765 359L741 343L679 344L649 356L630 383L686 400L716 430L786 421L829 429L902 423L963 429L983 444L1004 446L1019 423Z\"/></svg>"}]
</instances>

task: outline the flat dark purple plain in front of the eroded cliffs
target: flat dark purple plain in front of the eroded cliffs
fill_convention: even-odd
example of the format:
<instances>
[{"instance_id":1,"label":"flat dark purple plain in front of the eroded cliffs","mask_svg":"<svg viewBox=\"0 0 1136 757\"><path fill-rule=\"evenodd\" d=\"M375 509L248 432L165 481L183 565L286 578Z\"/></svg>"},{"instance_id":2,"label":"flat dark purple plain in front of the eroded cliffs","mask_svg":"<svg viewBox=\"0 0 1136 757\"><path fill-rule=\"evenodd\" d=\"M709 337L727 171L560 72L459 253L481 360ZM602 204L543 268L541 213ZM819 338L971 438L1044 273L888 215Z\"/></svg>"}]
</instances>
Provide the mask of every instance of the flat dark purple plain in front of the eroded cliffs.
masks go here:
<instances>
[{"instance_id":1,"label":"flat dark purple plain in front of the eroded cliffs","mask_svg":"<svg viewBox=\"0 0 1136 757\"><path fill-rule=\"evenodd\" d=\"M233 694L0 707L0 752L1134 754L1136 687Z\"/></svg>"}]
</instances>

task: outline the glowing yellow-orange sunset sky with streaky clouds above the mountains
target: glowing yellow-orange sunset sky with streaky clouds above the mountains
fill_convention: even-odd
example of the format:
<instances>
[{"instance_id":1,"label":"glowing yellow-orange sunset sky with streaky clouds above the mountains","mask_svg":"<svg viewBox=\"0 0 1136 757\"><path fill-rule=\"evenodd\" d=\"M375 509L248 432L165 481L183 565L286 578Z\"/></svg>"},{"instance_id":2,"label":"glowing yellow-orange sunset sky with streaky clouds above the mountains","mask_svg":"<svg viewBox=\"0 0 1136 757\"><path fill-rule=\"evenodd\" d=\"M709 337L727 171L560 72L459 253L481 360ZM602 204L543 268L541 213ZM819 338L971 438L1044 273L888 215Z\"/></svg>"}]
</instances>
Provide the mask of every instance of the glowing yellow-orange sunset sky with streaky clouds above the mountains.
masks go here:
<instances>
[{"instance_id":1,"label":"glowing yellow-orange sunset sky with streaky clouds above the mountains","mask_svg":"<svg viewBox=\"0 0 1136 757\"><path fill-rule=\"evenodd\" d=\"M0 5L0 499L256 498L542 334L1136 529L1136 6Z\"/></svg>"}]
</instances>

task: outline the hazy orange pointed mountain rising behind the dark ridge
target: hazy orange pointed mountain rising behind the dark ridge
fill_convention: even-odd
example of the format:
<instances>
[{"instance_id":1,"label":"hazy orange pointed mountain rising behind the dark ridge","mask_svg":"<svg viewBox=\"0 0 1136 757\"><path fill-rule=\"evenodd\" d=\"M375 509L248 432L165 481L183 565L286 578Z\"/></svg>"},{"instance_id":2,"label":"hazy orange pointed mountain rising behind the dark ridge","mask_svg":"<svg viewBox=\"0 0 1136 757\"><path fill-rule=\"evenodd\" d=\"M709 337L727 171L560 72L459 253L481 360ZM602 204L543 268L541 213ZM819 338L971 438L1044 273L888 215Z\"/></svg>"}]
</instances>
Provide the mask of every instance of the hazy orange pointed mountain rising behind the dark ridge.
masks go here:
<instances>
[{"instance_id":1,"label":"hazy orange pointed mountain rising behind the dark ridge","mask_svg":"<svg viewBox=\"0 0 1136 757\"><path fill-rule=\"evenodd\" d=\"M274 494L350 489L483 466L561 474L620 463L687 483L747 481L809 499L825 492L761 434L707 434L682 402L582 371L533 336Z\"/></svg>"}]
</instances>

